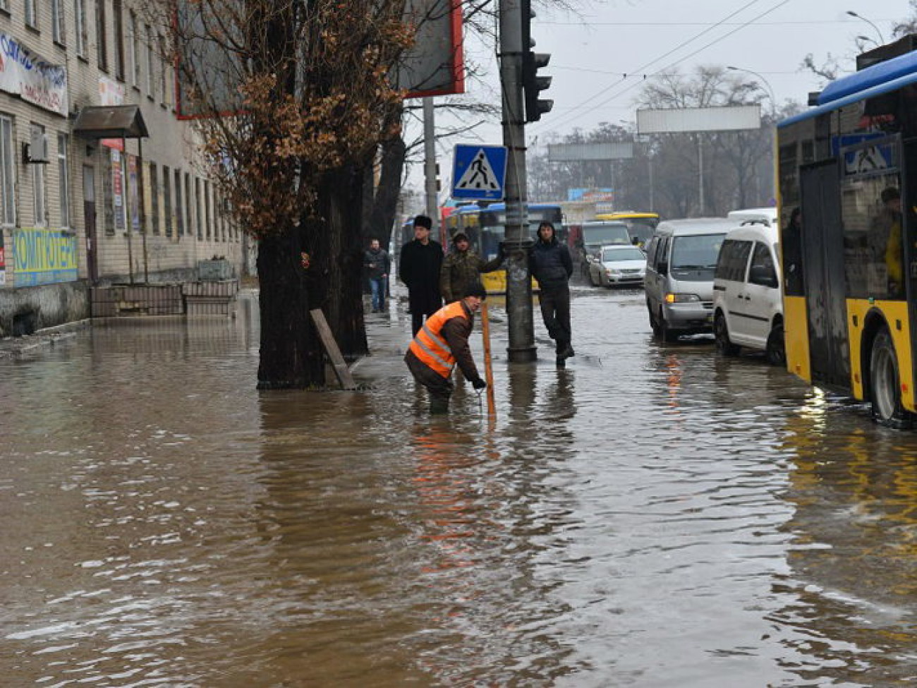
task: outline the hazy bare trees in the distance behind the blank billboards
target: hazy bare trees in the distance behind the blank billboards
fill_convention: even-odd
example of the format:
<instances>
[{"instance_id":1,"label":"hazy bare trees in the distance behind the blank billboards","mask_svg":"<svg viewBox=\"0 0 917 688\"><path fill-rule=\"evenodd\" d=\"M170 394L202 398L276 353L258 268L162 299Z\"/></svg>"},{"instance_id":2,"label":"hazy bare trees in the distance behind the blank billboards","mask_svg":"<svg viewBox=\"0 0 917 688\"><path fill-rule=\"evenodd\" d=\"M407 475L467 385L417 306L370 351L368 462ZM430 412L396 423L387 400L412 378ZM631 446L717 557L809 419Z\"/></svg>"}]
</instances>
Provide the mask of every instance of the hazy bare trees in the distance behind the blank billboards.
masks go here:
<instances>
[{"instance_id":1,"label":"hazy bare trees in the distance behind the blank billboards","mask_svg":"<svg viewBox=\"0 0 917 688\"><path fill-rule=\"evenodd\" d=\"M737 207L774 202L774 125L801 105L777 105L768 90L745 72L699 67L691 75L672 72L646 85L637 107L687 108L761 105L754 130L656 134L636 137L635 125L601 124L544 143L634 141L634 157L618 161L548 160L547 147L533 147L527 161L532 201L566 200L569 188L611 187L617 208L661 216L723 216ZM699 151L699 147L702 151ZM701 175L700 164L703 164ZM701 207L703 178L703 208Z\"/></svg>"}]
</instances>

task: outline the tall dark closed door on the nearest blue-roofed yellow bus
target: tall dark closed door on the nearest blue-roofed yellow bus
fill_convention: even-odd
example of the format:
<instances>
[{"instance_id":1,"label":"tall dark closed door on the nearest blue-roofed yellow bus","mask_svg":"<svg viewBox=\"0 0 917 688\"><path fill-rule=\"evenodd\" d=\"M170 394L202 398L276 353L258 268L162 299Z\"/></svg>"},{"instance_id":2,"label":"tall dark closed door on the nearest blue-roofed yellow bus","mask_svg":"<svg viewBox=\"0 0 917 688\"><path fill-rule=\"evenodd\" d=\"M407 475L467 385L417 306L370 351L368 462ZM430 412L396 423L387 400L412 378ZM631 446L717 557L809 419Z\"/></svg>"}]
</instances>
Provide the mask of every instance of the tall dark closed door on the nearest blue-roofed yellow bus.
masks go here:
<instances>
[{"instance_id":1,"label":"tall dark closed door on the nearest blue-roofed yellow bus","mask_svg":"<svg viewBox=\"0 0 917 688\"><path fill-rule=\"evenodd\" d=\"M800 186L812 383L849 390L844 232L837 161L802 167Z\"/></svg>"}]
</instances>

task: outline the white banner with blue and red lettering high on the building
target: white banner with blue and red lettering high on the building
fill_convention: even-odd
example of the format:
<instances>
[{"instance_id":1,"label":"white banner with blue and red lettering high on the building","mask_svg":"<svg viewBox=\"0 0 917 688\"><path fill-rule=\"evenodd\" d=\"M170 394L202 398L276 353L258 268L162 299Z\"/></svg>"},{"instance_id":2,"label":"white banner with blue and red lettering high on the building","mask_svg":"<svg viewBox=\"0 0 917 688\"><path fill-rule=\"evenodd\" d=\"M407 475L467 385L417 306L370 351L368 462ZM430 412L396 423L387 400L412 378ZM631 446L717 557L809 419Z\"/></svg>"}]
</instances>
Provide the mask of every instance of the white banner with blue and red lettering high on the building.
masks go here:
<instances>
[{"instance_id":1,"label":"white banner with blue and red lettering high on the building","mask_svg":"<svg viewBox=\"0 0 917 688\"><path fill-rule=\"evenodd\" d=\"M67 69L51 64L17 39L0 32L0 91L67 117Z\"/></svg>"}]
</instances>

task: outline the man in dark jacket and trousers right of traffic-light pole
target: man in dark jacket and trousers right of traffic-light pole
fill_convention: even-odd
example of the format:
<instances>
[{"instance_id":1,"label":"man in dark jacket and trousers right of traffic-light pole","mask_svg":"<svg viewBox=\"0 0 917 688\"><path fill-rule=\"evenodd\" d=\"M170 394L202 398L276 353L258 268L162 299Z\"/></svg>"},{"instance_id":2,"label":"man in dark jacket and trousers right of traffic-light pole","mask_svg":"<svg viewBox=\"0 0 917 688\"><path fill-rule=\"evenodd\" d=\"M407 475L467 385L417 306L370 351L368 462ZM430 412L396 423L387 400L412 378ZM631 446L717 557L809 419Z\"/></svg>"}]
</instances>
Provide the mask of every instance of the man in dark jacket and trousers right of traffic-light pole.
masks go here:
<instances>
[{"instance_id":1,"label":"man in dark jacket and trousers right of traffic-light pole","mask_svg":"<svg viewBox=\"0 0 917 688\"><path fill-rule=\"evenodd\" d=\"M528 256L529 271L538 281L538 303L547 334L557 345L558 366L573 355L570 344L570 288L573 261L568 248L554 235L554 225L538 225L538 240Z\"/></svg>"}]
</instances>

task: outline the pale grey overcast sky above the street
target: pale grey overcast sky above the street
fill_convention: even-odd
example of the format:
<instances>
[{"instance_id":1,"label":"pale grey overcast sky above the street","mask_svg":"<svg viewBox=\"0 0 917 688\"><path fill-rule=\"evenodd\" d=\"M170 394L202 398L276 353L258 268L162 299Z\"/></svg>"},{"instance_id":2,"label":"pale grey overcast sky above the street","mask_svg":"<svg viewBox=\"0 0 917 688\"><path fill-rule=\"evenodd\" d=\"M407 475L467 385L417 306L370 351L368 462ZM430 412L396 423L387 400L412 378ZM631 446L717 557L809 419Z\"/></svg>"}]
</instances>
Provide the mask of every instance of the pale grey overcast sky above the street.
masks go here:
<instances>
[{"instance_id":1,"label":"pale grey overcast sky above the street","mask_svg":"<svg viewBox=\"0 0 917 688\"><path fill-rule=\"evenodd\" d=\"M550 65L539 73L554 77L545 92L554 109L526 127L530 143L549 132L564 135L601 122L633 122L644 75L672 69L690 73L699 64L757 72L746 76L769 85L778 103L805 103L810 91L823 86L800 68L807 53L817 63L830 53L843 71L853 72L856 37L889 42L894 25L910 15L907 0L569 1L578 13L541 4L533 21L536 50L551 54ZM868 21L848 16L847 10ZM872 47L868 42L867 49ZM467 50L487 70L483 83L468 83L469 95L499 102L492 46L468 44ZM441 143L437 159L444 172L451 168L457 142L502 144L500 123L494 121L461 141ZM442 176L445 186L448 173Z\"/></svg>"}]
</instances>

